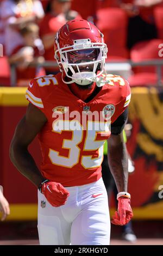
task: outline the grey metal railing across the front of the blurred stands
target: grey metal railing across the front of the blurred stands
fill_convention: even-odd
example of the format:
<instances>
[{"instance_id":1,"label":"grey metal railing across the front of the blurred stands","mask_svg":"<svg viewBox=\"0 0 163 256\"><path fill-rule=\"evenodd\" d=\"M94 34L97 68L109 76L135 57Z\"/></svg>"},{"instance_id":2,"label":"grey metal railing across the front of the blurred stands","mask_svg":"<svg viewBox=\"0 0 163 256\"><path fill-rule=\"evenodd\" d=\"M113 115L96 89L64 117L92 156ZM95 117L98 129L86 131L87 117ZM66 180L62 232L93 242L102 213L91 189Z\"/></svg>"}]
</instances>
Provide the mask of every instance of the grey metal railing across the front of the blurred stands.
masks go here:
<instances>
[{"instance_id":1,"label":"grey metal railing across the front of the blurred stands","mask_svg":"<svg viewBox=\"0 0 163 256\"><path fill-rule=\"evenodd\" d=\"M128 60L127 62L106 62L106 67L107 64L111 65L111 64L118 64L119 65L123 65L123 64L128 64L130 65L130 67L136 67L136 66L155 66L156 68L156 75L157 75L157 82L156 85L158 86L163 86L161 78L162 78L162 70L161 67L163 66L163 59L151 59L151 60L145 60L142 62L132 62L131 60ZM12 64L11 65L11 86L16 86L16 66L17 64ZM38 64L30 64L29 67L35 67L35 68L56 68L58 67L58 64L56 62L53 61L46 61L44 63L42 63L41 65ZM118 69L117 69L118 71ZM106 72L109 72L109 70L107 70L106 68ZM33 77L32 77L33 78Z\"/></svg>"}]
</instances>

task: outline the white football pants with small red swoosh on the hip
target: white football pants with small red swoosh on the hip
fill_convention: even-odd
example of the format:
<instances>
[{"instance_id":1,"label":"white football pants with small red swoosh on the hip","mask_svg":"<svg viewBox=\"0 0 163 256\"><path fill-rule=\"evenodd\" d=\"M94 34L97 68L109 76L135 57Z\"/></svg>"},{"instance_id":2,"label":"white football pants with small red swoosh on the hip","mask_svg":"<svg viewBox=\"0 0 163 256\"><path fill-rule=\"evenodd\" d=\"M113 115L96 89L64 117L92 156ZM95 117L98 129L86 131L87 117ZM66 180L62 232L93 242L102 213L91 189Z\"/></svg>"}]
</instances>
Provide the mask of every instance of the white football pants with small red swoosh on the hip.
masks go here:
<instances>
[{"instance_id":1,"label":"white football pants with small red swoosh on the hip","mask_svg":"<svg viewBox=\"0 0 163 256\"><path fill-rule=\"evenodd\" d=\"M60 207L53 207L38 191L40 245L109 245L108 196L102 178L66 189L70 196Z\"/></svg>"}]
</instances>

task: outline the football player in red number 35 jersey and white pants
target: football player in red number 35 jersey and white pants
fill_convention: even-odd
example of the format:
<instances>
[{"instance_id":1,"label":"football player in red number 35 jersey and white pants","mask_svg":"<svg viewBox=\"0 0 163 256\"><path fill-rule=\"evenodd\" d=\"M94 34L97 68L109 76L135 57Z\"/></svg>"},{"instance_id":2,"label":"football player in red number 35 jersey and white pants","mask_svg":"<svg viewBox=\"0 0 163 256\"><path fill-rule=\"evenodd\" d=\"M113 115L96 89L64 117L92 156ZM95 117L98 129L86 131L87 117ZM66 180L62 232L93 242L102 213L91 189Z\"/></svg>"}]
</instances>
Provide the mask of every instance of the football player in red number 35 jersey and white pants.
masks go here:
<instances>
[{"instance_id":1,"label":"football player in red number 35 jersey and white pants","mask_svg":"<svg viewBox=\"0 0 163 256\"><path fill-rule=\"evenodd\" d=\"M122 77L105 74L103 34L85 20L62 26L54 51L60 72L29 83L29 105L11 142L11 161L38 188L41 245L109 245L108 198L101 178L106 139L118 190L112 223L124 225L133 216L122 135L130 87ZM28 151L36 135L41 169Z\"/></svg>"}]
</instances>

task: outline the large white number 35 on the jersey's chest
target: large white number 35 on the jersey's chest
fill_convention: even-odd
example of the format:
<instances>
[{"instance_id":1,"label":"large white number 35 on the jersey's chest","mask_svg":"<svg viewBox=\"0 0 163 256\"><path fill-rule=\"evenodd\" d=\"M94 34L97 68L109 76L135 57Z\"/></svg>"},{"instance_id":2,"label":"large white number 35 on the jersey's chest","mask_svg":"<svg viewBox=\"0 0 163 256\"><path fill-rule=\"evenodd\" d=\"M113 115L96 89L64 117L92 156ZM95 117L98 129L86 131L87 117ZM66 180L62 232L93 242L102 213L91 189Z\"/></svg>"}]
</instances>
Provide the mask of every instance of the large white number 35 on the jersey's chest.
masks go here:
<instances>
[{"instance_id":1,"label":"large white number 35 on the jersey's chest","mask_svg":"<svg viewBox=\"0 0 163 256\"><path fill-rule=\"evenodd\" d=\"M86 137L84 141L84 151L92 151L92 150L98 150L98 156L96 158L92 158L92 155L82 156L81 164L85 169L89 168L97 168L101 166L101 163L103 161L103 145L105 142L105 138L103 140L97 141L97 133L103 132L108 133L109 132L109 126L107 123L101 122L101 124L88 121L87 122L87 131L86 131ZM64 129L59 130L58 127L63 126ZM73 127L76 129L73 130ZM101 127L104 127L102 129ZM59 151L49 149L49 158L51 159L51 162L53 164L57 164L59 166L64 166L67 168L72 168L75 164L79 162L79 156L80 156L80 148L78 145L83 141L83 126L76 120L59 120L54 121L53 123L53 132L57 132L61 134L62 131L71 131L73 132L71 139L64 139L62 143L63 149L68 149L69 154L68 157L60 156Z\"/></svg>"}]
</instances>

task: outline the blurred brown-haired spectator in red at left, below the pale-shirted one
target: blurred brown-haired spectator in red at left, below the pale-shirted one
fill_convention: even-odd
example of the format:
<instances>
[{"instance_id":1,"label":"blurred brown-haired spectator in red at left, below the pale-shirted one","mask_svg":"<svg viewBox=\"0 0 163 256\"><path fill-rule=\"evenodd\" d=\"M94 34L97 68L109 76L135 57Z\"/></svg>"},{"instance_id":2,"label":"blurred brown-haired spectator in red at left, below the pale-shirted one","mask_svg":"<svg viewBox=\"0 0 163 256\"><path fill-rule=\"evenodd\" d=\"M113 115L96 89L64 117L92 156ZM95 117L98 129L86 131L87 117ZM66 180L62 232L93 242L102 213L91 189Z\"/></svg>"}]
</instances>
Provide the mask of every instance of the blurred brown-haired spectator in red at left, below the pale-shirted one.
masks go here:
<instances>
[{"instance_id":1,"label":"blurred brown-haired spectator in red at left, below the pale-shirted one","mask_svg":"<svg viewBox=\"0 0 163 256\"><path fill-rule=\"evenodd\" d=\"M41 64L44 62L43 45L39 40L39 27L35 23L29 23L28 25L20 29L24 44L17 46L9 57L10 64L16 64L17 66L17 85L27 86L30 80L37 76L37 69L34 67L28 67L30 64ZM45 74L43 74L45 75Z\"/></svg>"}]
</instances>

